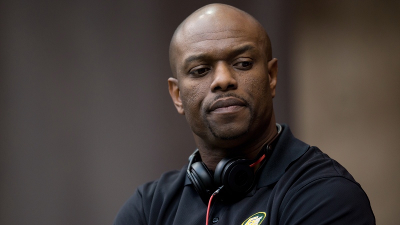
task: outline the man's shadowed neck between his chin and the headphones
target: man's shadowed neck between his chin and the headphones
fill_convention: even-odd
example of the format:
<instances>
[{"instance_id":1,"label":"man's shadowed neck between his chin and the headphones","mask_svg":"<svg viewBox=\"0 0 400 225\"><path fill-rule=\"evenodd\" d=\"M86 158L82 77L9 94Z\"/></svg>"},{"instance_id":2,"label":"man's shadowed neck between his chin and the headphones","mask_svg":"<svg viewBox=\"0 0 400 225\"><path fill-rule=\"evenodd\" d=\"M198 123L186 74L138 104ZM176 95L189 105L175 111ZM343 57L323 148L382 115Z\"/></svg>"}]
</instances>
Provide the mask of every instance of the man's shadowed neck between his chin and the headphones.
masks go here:
<instances>
[{"instance_id":1,"label":"man's shadowed neck between his chin and the headphones","mask_svg":"<svg viewBox=\"0 0 400 225\"><path fill-rule=\"evenodd\" d=\"M201 160L208 169L214 171L218 162L229 155L237 155L244 158L255 158L264 144L269 143L277 134L275 121L271 122L268 127L257 138L248 138L247 141L238 143L233 147L225 147L223 145L212 145L206 143L198 136L194 136L196 145L201 155ZM234 141L234 140L228 140Z\"/></svg>"}]
</instances>

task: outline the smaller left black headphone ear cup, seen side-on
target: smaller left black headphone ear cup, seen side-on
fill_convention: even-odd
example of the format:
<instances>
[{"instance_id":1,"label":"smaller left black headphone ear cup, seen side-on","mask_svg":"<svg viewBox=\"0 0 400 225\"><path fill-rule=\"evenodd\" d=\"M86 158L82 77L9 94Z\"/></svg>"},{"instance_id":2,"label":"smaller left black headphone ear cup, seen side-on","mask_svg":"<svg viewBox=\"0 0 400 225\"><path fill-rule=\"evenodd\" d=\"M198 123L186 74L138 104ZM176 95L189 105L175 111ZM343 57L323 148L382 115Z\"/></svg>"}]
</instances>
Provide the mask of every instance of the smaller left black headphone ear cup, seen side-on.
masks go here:
<instances>
[{"instance_id":1,"label":"smaller left black headphone ear cup, seen side-on","mask_svg":"<svg viewBox=\"0 0 400 225\"><path fill-rule=\"evenodd\" d=\"M214 190L213 177L202 161L191 164L187 171L187 176L201 197L212 194Z\"/></svg>"}]
</instances>

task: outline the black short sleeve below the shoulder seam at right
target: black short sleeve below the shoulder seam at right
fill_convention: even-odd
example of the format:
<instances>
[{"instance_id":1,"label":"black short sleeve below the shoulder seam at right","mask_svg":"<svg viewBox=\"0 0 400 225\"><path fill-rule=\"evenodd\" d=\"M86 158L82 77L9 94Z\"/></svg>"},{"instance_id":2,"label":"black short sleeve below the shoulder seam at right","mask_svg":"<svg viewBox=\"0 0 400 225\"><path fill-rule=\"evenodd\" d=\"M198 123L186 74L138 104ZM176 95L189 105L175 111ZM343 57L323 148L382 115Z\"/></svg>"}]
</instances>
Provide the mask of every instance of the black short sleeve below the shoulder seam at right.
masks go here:
<instances>
[{"instance_id":1,"label":"black short sleeve below the shoulder seam at right","mask_svg":"<svg viewBox=\"0 0 400 225\"><path fill-rule=\"evenodd\" d=\"M375 224L365 192L341 176L313 180L285 202L279 224Z\"/></svg>"}]
</instances>

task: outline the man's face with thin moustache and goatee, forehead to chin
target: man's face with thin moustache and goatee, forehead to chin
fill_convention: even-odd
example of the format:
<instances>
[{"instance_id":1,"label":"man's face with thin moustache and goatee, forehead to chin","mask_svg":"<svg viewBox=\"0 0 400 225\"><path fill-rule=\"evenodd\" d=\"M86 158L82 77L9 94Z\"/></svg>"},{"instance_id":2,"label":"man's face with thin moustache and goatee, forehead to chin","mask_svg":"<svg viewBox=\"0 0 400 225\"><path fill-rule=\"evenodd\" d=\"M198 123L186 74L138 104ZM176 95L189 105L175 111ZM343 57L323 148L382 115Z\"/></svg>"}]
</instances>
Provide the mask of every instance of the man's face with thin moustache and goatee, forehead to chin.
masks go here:
<instances>
[{"instance_id":1,"label":"man's face with thin moustache and goatee, forehead to chin","mask_svg":"<svg viewBox=\"0 0 400 225\"><path fill-rule=\"evenodd\" d=\"M169 81L170 91L171 85L178 89L178 111L211 144L263 133L274 95L263 33L240 18L223 20L204 18L182 28L173 53L177 81Z\"/></svg>"}]
</instances>

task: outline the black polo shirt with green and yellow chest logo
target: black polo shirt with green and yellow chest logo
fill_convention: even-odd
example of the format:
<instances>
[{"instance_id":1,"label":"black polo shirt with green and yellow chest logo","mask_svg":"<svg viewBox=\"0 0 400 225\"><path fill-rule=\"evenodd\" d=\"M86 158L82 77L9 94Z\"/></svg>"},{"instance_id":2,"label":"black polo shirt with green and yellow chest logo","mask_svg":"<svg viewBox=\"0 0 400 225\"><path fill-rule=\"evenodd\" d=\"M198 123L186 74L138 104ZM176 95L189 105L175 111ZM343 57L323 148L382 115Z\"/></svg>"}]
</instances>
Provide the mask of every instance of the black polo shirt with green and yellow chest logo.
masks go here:
<instances>
[{"instance_id":1,"label":"black polo shirt with green and yellow chest logo","mask_svg":"<svg viewBox=\"0 0 400 225\"><path fill-rule=\"evenodd\" d=\"M347 170L282 128L255 188L234 203L216 195L208 224L375 224L368 197ZM207 206L186 168L139 186L114 224L205 224Z\"/></svg>"}]
</instances>

